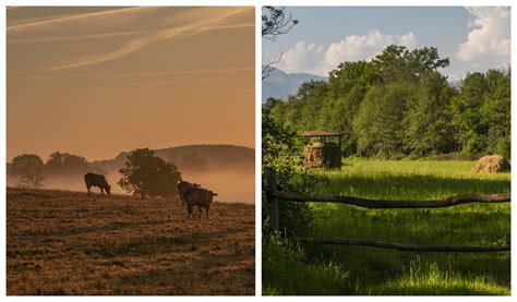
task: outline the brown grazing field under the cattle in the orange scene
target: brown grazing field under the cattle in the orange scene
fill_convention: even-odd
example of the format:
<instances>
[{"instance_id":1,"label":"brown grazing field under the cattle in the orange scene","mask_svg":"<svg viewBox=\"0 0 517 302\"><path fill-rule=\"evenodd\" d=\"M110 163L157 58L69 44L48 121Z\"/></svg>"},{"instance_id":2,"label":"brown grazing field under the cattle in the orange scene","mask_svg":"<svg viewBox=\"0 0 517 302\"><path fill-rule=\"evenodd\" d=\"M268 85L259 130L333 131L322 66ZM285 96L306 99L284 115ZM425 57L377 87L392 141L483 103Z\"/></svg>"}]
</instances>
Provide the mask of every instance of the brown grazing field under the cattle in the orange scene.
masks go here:
<instances>
[{"instance_id":1,"label":"brown grazing field under the cattle in the orange scene","mask_svg":"<svg viewBox=\"0 0 517 302\"><path fill-rule=\"evenodd\" d=\"M7 293L254 294L254 205L8 188Z\"/></svg>"}]
</instances>

